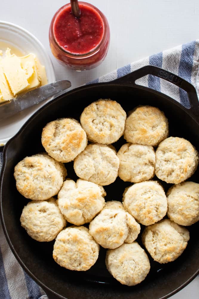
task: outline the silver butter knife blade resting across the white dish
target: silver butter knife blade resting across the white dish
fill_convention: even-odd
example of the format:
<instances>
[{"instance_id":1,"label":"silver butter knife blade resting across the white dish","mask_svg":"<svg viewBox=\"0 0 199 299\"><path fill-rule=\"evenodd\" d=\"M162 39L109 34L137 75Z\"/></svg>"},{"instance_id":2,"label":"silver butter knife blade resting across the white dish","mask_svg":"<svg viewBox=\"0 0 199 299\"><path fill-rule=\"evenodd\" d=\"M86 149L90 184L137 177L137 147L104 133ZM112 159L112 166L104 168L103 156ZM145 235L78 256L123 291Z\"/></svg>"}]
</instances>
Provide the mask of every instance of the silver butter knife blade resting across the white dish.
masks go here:
<instances>
[{"instance_id":1,"label":"silver butter knife blade resting across the white dish","mask_svg":"<svg viewBox=\"0 0 199 299\"><path fill-rule=\"evenodd\" d=\"M58 92L64 91L70 86L70 81L60 80L28 91L27 93L17 96L10 101L4 102L0 104L0 120L8 118L9 116L31 106L37 105Z\"/></svg>"}]
</instances>

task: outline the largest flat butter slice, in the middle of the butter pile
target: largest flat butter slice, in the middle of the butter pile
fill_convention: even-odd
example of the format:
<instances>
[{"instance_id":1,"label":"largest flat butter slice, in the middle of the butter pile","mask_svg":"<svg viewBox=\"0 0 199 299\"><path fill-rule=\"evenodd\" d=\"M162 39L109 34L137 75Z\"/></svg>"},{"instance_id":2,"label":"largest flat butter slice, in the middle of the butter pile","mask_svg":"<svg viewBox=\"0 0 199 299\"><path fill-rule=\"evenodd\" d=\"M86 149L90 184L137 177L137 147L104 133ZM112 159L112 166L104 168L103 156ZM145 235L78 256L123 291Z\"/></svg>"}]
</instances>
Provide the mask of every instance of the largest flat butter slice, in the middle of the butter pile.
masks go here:
<instances>
[{"instance_id":1,"label":"largest flat butter slice, in the middle of the butter pile","mask_svg":"<svg viewBox=\"0 0 199 299\"><path fill-rule=\"evenodd\" d=\"M19 57L15 54L7 56L1 61L1 65L14 95L29 86L25 72L21 68L21 60Z\"/></svg>"}]
</instances>

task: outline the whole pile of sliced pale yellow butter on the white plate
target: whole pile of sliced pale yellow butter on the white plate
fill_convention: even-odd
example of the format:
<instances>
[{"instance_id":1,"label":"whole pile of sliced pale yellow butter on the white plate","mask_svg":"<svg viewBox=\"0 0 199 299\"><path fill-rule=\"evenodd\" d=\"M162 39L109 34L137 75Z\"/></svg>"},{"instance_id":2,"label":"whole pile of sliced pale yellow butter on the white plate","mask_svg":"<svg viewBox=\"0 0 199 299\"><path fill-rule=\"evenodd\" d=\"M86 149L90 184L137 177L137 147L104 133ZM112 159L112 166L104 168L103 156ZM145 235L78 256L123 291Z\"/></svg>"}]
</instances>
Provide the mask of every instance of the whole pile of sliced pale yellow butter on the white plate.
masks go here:
<instances>
[{"instance_id":1,"label":"whole pile of sliced pale yellow butter on the white plate","mask_svg":"<svg viewBox=\"0 0 199 299\"><path fill-rule=\"evenodd\" d=\"M7 48L0 58L0 103L47 83L45 67L33 53L18 57Z\"/></svg>"}]
</instances>

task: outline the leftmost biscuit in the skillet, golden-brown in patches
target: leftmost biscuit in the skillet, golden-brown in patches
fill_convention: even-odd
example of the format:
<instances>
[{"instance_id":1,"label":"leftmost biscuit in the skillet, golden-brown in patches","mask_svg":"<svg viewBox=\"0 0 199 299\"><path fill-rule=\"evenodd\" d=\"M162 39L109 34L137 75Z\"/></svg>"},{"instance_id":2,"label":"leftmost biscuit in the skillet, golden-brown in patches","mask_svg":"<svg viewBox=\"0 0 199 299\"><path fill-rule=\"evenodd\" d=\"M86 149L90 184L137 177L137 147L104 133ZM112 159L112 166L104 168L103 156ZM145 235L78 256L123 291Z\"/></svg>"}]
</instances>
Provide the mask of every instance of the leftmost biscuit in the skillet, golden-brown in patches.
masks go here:
<instances>
[{"instance_id":1,"label":"leftmost biscuit in the skillet, golden-brown in patches","mask_svg":"<svg viewBox=\"0 0 199 299\"><path fill-rule=\"evenodd\" d=\"M56 195L66 175L64 164L46 153L24 158L14 170L17 190L32 200L46 200Z\"/></svg>"}]
</instances>

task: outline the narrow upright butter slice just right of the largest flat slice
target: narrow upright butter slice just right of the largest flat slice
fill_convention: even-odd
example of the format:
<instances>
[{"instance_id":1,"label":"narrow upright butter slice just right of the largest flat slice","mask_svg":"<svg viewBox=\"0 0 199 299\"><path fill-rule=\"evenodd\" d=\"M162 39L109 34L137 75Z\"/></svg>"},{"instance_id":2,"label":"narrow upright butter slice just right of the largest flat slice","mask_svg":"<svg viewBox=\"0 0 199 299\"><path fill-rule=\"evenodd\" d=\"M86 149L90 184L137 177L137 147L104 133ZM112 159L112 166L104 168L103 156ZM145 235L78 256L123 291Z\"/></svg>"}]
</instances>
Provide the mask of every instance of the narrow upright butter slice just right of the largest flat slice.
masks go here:
<instances>
[{"instance_id":1,"label":"narrow upright butter slice just right of the largest flat slice","mask_svg":"<svg viewBox=\"0 0 199 299\"><path fill-rule=\"evenodd\" d=\"M26 56L20 57L21 66L26 73L29 86L26 89L33 89L40 85L38 80L38 73L35 62L35 55L30 53Z\"/></svg>"}]
</instances>

